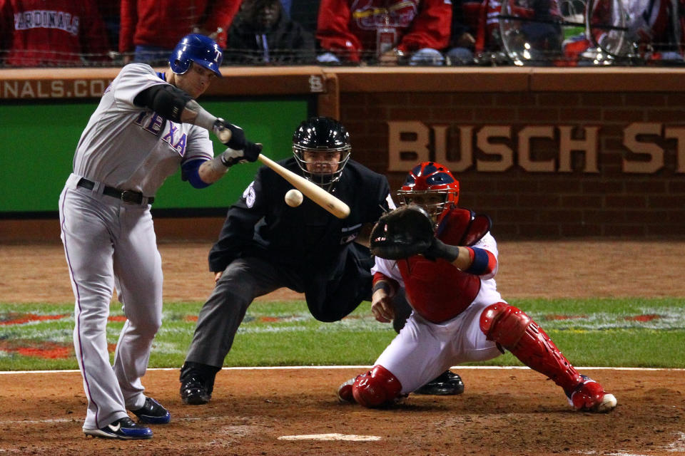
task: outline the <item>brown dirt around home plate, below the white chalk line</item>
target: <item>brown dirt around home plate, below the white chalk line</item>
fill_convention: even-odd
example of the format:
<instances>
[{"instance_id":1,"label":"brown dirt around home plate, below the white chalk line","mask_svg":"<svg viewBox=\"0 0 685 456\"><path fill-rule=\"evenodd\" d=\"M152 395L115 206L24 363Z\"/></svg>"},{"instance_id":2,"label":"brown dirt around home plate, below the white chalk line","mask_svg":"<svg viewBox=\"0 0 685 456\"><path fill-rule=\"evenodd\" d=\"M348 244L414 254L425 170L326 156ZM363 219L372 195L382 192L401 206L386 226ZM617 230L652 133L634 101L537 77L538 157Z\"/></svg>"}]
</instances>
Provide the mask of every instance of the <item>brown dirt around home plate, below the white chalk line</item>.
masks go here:
<instances>
[{"instance_id":1,"label":"brown dirt around home plate, below the white chalk line","mask_svg":"<svg viewBox=\"0 0 685 456\"><path fill-rule=\"evenodd\" d=\"M587 371L616 393L607 415L576 413L529 370L462 371L457 397L411 396L390 410L338 405L333 390L357 370L225 371L208 405L183 405L177 371L145 383L170 408L153 440L84 437L78 373L0 375L0 452L21 455L677 455L685 453L682 371ZM380 437L348 442L290 435Z\"/></svg>"}]
</instances>

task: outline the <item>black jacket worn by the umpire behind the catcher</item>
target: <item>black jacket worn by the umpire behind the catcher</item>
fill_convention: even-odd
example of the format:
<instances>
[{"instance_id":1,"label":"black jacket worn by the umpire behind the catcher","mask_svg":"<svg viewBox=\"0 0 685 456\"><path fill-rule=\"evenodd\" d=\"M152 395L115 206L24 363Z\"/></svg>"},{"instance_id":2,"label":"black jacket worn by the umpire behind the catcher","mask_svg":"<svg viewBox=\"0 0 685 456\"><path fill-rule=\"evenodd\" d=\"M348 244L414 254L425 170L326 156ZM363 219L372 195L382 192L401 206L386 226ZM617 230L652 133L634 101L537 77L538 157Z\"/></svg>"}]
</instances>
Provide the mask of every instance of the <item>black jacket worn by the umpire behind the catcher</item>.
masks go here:
<instances>
[{"instance_id":1,"label":"black jacket worn by the umpire behind the catcher","mask_svg":"<svg viewBox=\"0 0 685 456\"><path fill-rule=\"evenodd\" d=\"M302 175L294 157L279 161ZM389 209L390 185L384 175L349 160L333 195L350 207L338 219L305 197L298 207L285 204L290 182L262 166L255 180L228 209L218 241L209 253L210 271L223 271L239 257L260 257L295 271L313 316L337 321L371 298L373 259L355 239L364 224Z\"/></svg>"}]
</instances>

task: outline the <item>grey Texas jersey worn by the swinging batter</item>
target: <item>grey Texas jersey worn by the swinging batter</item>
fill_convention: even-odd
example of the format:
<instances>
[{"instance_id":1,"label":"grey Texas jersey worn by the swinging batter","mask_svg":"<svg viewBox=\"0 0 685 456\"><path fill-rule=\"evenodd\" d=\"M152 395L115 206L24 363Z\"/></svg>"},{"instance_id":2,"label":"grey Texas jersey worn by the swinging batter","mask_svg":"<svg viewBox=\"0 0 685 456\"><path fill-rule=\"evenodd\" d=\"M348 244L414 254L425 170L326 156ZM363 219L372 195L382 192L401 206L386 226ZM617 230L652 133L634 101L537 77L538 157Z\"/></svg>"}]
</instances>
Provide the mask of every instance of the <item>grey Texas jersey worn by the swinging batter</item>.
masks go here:
<instances>
[{"instance_id":1,"label":"grey Texas jersey worn by the swinging batter","mask_svg":"<svg viewBox=\"0 0 685 456\"><path fill-rule=\"evenodd\" d=\"M164 120L133 104L142 90L166 84L144 63L124 66L102 95L73 157L73 173L122 190L156 194L181 162L214 156L207 130Z\"/></svg>"}]
</instances>

